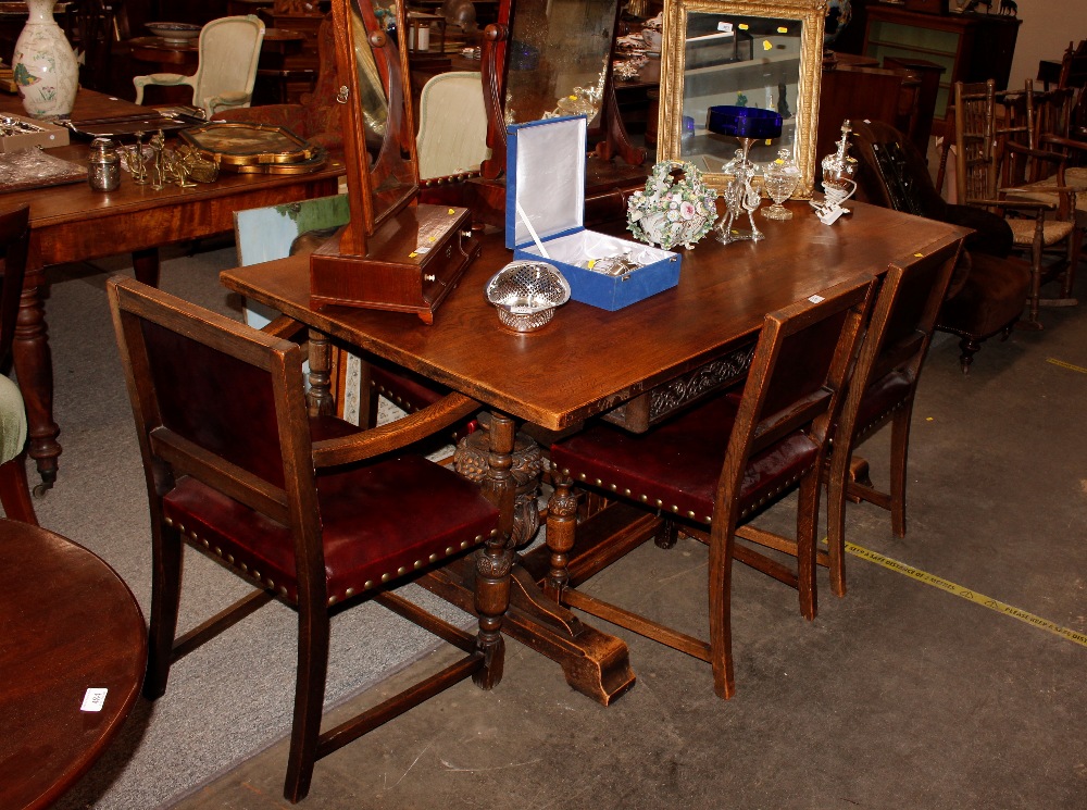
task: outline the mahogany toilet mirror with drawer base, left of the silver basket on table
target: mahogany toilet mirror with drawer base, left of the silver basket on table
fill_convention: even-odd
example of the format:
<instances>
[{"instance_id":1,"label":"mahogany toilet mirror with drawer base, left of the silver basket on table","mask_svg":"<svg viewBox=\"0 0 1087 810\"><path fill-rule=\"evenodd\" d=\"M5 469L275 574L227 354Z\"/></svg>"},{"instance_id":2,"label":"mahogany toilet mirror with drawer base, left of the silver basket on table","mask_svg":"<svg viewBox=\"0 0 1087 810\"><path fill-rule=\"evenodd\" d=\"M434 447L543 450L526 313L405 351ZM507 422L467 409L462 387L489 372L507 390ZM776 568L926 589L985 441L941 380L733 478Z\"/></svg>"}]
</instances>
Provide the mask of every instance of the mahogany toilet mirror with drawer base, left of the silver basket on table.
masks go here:
<instances>
[{"instance_id":1,"label":"mahogany toilet mirror with drawer base, left of the silver basket on table","mask_svg":"<svg viewBox=\"0 0 1087 810\"><path fill-rule=\"evenodd\" d=\"M345 104L350 222L310 258L310 300L434 312L479 252L465 208L418 202L407 52L378 21L377 0L333 0L336 65ZM404 10L396 10L404 32Z\"/></svg>"}]
</instances>

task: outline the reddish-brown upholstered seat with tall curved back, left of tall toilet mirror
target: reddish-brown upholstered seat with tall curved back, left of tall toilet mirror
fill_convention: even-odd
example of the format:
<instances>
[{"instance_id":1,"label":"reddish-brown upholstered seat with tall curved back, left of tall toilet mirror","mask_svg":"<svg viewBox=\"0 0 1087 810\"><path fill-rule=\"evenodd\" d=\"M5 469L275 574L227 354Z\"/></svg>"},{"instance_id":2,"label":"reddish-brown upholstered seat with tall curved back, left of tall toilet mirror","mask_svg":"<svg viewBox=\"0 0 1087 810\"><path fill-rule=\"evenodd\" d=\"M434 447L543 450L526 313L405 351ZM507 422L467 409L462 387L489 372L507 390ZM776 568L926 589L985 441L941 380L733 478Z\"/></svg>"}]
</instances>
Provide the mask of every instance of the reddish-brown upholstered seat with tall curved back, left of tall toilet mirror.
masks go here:
<instances>
[{"instance_id":1,"label":"reddish-brown upholstered seat with tall curved back, left of tall toilet mirror","mask_svg":"<svg viewBox=\"0 0 1087 810\"><path fill-rule=\"evenodd\" d=\"M336 77L336 39L332 17L326 16L317 32L317 54L321 71L312 92L302 94L297 104L262 104L242 110L226 110L216 121L246 121L254 124L283 126L329 152L343 150Z\"/></svg>"}]
</instances>

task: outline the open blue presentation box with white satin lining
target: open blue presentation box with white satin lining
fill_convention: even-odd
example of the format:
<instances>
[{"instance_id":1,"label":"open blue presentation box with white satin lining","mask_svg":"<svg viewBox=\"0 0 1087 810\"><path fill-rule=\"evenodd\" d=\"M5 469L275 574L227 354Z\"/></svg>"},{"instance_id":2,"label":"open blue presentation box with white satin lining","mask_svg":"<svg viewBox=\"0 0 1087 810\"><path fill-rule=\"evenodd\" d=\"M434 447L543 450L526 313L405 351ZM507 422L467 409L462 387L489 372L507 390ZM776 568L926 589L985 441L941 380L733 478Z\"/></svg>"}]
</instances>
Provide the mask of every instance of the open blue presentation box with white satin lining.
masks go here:
<instances>
[{"instance_id":1,"label":"open blue presentation box with white satin lining","mask_svg":"<svg viewBox=\"0 0 1087 810\"><path fill-rule=\"evenodd\" d=\"M559 267L573 300L614 311L675 287L682 257L585 228L586 129L583 115L509 127L505 246L515 259ZM624 254L641 266L622 275L588 267Z\"/></svg>"}]
</instances>

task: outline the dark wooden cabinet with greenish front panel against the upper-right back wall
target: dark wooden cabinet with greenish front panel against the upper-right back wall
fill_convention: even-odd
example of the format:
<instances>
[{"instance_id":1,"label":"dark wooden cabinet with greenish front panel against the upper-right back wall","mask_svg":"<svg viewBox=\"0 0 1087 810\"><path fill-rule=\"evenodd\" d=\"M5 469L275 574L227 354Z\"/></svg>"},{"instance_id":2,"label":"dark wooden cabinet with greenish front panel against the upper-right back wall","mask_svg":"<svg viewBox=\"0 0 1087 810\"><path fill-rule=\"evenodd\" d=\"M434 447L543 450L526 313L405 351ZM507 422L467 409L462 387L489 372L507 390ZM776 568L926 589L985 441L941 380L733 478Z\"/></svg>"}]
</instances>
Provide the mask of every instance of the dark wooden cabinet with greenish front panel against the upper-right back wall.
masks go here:
<instances>
[{"instance_id":1,"label":"dark wooden cabinet with greenish front panel against the upper-right back wall","mask_svg":"<svg viewBox=\"0 0 1087 810\"><path fill-rule=\"evenodd\" d=\"M942 121L955 82L994 78L1008 86L1020 21L999 14L921 14L900 5L869 5L864 53L880 61L923 59L944 67L935 116Z\"/></svg>"}]
</instances>

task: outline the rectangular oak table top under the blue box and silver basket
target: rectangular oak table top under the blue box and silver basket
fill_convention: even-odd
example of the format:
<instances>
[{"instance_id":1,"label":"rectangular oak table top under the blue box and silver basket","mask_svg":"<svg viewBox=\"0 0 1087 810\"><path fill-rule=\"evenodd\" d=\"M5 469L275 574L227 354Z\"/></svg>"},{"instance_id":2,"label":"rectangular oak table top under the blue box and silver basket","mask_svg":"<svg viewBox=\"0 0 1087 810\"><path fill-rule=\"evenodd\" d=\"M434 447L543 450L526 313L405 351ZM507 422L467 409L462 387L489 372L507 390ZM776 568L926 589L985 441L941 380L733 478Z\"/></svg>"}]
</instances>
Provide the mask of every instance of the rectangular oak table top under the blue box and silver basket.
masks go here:
<instances>
[{"instance_id":1,"label":"rectangular oak table top under the blue box and silver basket","mask_svg":"<svg viewBox=\"0 0 1087 810\"><path fill-rule=\"evenodd\" d=\"M723 246L707 236L680 250L679 285L608 312L571 301L542 329L503 328L484 298L487 279L512 261L501 234L427 326L411 314L309 302L309 259L224 271L241 292L324 333L549 429L564 429L694 371L750 341L766 312L859 274L876 274L957 228L850 202L833 226L807 202L795 219L760 219L766 238Z\"/></svg>"}]
</instances>

